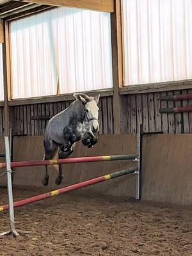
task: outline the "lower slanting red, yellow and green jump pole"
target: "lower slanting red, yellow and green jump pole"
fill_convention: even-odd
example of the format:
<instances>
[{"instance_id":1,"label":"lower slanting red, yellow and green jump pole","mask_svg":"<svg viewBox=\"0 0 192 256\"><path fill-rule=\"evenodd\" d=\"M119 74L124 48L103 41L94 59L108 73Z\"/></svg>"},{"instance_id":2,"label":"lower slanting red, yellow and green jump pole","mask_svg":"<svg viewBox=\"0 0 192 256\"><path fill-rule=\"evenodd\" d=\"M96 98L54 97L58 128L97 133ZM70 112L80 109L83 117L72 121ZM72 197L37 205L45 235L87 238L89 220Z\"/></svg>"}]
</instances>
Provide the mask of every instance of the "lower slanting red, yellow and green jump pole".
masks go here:
<instances>
[{"instance_id":1,"label":"lower slanting red, yellow and green jump pole","mask_svg":"<svg viewBox=\"0 0 192 256\"><path fill-rule=\"evenodd\" d=\"M83 182L80 182L80 183L77 183L77 184L73 184L73 185L67 186L65 188L56 189L56 190L53 190L51 192L47 192L47 193L42 194L42 195L32 196L30 198L26 198L24 200L19 200L17 202L14 202L13 207L17 208L17 207L20 207L20 206L23 206L23 205L31 204L33 202L44 200L44 199L52 197L52 196L64 194L64 193L67 193L69 191L73 191L73 190L84 188L84 187L87 187L87 186L90 186L90 185L93 185L93 184L97 184L97 183L102 182L102 181L115 179L117 177L127 175L129 173L134 173L134 172L136 172L136 170L137 170L136 167L131 167L128 170L122 170L122 171L114 172L114 173L111 173L111 174L107 174L107 175L97 177L95 179L86 180L86 181L83 181ZM9 209L8 204L3 205L3 206L0 207L0 212L6 211L8 209Z\"/></svg>"}]
</instances>

